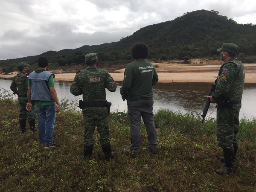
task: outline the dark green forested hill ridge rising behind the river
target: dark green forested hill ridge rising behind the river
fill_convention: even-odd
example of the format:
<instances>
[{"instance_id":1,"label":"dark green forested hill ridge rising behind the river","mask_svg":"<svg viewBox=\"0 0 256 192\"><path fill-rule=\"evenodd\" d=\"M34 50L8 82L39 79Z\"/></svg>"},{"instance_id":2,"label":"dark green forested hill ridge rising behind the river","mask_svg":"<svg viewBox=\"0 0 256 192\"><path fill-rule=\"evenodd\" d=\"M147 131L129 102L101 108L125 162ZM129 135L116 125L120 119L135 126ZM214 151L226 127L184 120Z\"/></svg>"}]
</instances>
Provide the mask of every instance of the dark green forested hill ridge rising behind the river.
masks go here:
<instances>
[{"instance_id":1,"label":"dark green forested hill ridge rising behind the river","mask_svg":"<svg viewBox=\"0 0 256 192\"><path fill-rule=\"evenodd\" d=\"M134 42L150 48L151 60L172 60L218 55L223 42L239 45L242 56L256 55L256 25L238 24L217 11L187 12L174 20L145 26L134 34L111 44L83 46L77 49L48 51L41 55L58 66L83 64L84 54L96 52L101 61L131 60ZM16 66L21 61L36 63L39 55L0 61L0 67Z\"/></svg>"}]
</instances>

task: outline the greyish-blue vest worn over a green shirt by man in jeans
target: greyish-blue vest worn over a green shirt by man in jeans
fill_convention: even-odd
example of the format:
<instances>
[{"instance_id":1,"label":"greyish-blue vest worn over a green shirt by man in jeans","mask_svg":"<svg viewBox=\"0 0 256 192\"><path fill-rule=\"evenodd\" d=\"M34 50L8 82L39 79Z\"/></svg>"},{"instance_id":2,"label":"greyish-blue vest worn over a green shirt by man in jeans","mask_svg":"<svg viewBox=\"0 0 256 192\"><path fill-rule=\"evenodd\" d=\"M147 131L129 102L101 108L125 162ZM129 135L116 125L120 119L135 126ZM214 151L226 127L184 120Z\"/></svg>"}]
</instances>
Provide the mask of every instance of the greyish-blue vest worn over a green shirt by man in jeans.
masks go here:
<instances>
[{"instance_id":1,"label":"greyish-blue vest worn over a green shirt by man in jeans","mask_svg":"<svg viewBox=\"0 0 256 192\"><path fill-rule=\"evenodd\" d=\"M54 74L46 70L35 70L30 73L32 101L54 102L48 86L48 81L52 75L54 78Z\"/></svg>"}]
</instances>

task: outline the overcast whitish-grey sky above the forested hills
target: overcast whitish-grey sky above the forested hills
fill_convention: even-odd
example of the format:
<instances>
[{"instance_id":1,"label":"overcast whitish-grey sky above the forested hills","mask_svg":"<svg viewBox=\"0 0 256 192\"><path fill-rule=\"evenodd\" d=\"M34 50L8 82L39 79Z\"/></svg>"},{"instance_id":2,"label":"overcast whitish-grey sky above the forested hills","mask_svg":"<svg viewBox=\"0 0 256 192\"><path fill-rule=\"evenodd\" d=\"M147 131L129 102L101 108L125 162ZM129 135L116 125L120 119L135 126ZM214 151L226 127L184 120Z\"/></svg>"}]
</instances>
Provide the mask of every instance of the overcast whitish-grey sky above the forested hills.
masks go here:
<instances>
[{"instance_id":1,"label":"overcast whitish-grey sky above the forested hills","mask_svg":"<svg viewBox=\"0 0 256 192\"><path fill-rule=\"evenodd\" d=\"M0 60L120 41L200 9L256 24L256 0L0 0Z\"/></svg>"}]
</instances>

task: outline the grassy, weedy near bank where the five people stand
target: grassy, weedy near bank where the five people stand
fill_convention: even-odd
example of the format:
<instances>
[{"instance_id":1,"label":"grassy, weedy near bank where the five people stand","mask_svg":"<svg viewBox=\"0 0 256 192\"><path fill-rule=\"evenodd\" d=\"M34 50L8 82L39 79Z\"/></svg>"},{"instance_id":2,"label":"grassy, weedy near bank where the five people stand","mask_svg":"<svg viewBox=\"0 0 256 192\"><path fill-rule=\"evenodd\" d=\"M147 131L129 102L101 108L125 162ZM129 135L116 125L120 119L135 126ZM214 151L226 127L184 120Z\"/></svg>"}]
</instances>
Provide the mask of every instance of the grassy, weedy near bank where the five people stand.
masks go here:
<instances>
[{"instance_id":1,"label":"grassy, weedy near bank where the five people stand","mask_svg":"<svg viewBox=\"0 0 256 192\"><path fill-rule=\"evenodd\" d=\"M104 160L95 132L92 160L80 160L83 150L81 112L56 115L54 141L60 148L45 149L38 134L20 134L18 103L0 100L0 191L26 192L253 192L256 190L256 120L241 119L236 174L216 175L222 155L215 138L215 119L202 125L195 113L159 110L154 116L159 151L151 154L142 123L142 153L126 157L129 122L126 113L109 116L115 158ZM27 125L28 126L28 125Z\"/></svg>"}]
</instances>

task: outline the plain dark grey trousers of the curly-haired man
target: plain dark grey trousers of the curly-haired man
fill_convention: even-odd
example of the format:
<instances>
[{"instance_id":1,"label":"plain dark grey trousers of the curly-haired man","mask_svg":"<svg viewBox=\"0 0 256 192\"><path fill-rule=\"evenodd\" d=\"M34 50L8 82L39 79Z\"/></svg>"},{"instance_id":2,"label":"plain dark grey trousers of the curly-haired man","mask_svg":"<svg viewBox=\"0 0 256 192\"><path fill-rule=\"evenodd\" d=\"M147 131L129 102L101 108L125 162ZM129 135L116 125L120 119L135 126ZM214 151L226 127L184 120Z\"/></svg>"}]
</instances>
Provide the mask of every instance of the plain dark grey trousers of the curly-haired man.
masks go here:
<instances>
[{"instance_id":1,"label":"plain dark grey trousers of the curly-haired man","mask_svg":"<svg viewBox=\"0 0 256 192\"><path fill-rule=\"evenodd\" d=\"M136 155L140 154L140 146L142 143L140 134L141 117L148 134L148 147L153 150L157 149L157 130L153 118L153 103L153 99L127 101L131 134L130 149Z\"/></svg>"}]
</instances>

